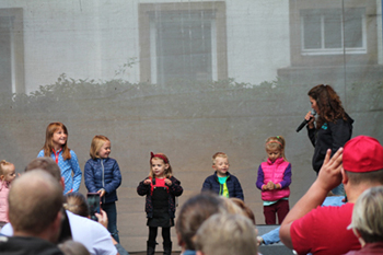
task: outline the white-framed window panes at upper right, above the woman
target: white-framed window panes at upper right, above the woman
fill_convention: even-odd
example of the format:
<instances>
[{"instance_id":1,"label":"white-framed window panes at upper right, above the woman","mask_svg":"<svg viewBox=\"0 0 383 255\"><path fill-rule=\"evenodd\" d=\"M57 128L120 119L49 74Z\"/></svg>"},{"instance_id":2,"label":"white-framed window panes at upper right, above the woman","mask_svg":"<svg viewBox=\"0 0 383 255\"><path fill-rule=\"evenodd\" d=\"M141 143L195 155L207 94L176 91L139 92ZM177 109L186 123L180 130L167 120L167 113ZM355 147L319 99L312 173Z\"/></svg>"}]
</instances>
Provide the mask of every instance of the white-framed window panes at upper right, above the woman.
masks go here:
<instances>
[{"instance_id":1,"label":"white-framed window panes at upper right, above the woman","mask_svg":"<svg viewBox=\"0 0 383 255\"><path fill-rule=\"evenodd\" d=\"M301 10L303 55L365 54L365 9Z\"/></svg>"}]
</instances>

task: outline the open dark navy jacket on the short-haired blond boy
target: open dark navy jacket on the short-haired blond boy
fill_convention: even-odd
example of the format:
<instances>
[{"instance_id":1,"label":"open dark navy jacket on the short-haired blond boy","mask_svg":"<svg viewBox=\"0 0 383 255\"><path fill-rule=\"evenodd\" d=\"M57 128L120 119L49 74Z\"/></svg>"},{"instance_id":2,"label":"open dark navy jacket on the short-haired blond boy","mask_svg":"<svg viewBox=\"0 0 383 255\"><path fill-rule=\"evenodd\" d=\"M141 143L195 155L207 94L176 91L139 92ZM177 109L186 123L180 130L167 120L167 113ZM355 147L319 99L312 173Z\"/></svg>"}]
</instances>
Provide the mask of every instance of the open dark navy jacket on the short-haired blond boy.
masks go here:
<instances>
[{"instance_id":1,"label":"open dark navy jacket on the short-haired blond boy","mask_svg":"<svg viewBox=\"0 0 383 255\"><path fill-rule=\"evenodd\" d=\"M236 197L244 200L240 181L228 172L227 186L229 189L229 197ZM222 195L223 185L218 182L217 171L213 175L207 177L202 185L202 192L211 190L218 195Z\"/></svg>"}]
</instances>

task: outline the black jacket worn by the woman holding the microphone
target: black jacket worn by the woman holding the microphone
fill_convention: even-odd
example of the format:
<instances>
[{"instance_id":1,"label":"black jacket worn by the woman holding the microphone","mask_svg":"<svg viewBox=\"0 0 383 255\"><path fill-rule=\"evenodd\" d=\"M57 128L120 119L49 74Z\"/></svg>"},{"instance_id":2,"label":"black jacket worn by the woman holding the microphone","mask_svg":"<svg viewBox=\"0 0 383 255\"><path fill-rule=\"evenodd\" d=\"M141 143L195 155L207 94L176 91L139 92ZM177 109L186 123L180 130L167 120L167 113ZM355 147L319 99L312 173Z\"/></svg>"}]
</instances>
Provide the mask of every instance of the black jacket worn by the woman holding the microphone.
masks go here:
<instances>
[{"instance_id":1,"label":"black jacket worn by the woman holding the microphone","mask_svg":"<svg viewBox=\"0 0 383 255\"><path fill-rule=\"evenodd\" d=\"M307 127L311 143L315 147L312 160L313 169L320 172L327 149L332 149L332 155L350 140L353 119L346 114L347 120L336 119L336 123L325 123L320 129Z\"/></svg>"}]
</instances>

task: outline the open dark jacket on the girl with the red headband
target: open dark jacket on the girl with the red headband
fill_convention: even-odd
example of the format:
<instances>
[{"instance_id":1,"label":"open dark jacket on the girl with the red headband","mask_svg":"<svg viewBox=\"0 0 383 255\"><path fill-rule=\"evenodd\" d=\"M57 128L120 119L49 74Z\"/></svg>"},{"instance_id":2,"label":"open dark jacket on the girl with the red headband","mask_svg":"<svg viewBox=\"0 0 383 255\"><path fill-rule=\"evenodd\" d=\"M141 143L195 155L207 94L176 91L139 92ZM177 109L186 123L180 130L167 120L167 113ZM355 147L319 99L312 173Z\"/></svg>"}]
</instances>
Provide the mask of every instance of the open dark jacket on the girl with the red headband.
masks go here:
<instances>
[{"instance_id":1,"label":"open dark jacket on the girl with the red headband","mask_svg":"<svg viewBox=\"0 0 383 255\"><path fill-rule=\"evenodd\" d=\"M147 212L148 218L153 218L151 185L143 184L143 181L139 183L137 194L140 196L147 196L144 211ZM170 177L170 181L172 181L172 185L169 186L169 215L173 219L175 218L175 197L181 196L184 189L181 187L181 182L174 176Z\"/></svg>"}]
</instances>

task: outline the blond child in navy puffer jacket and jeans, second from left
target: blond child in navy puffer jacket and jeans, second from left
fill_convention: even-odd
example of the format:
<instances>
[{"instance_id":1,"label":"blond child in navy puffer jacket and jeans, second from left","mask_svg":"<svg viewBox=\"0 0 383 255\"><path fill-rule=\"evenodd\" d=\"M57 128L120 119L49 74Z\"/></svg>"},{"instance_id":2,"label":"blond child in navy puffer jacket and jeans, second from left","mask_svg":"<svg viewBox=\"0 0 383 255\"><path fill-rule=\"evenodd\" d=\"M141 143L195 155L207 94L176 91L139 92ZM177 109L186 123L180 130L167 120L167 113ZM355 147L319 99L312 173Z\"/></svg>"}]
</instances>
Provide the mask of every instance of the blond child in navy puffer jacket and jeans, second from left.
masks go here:
<instances>
[{"instance_id":1,"label":"blond child in navy puffer jacket and jeans, second from left","mask_svg":"<svg viewBox=\"0 0 383 255\"><path fill-rule=\"evenodd\" d=\"M121 184L121 174L116 160L109 158L111 141L105 136L95 136L91 144L91 158L85 163L85 186L89 193L100 193L102 209L108 218L107 230L119 243L117 230L116 189Z\"/></svg>"}]
</instances>

